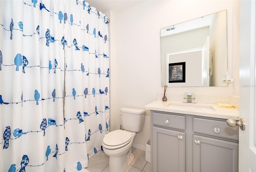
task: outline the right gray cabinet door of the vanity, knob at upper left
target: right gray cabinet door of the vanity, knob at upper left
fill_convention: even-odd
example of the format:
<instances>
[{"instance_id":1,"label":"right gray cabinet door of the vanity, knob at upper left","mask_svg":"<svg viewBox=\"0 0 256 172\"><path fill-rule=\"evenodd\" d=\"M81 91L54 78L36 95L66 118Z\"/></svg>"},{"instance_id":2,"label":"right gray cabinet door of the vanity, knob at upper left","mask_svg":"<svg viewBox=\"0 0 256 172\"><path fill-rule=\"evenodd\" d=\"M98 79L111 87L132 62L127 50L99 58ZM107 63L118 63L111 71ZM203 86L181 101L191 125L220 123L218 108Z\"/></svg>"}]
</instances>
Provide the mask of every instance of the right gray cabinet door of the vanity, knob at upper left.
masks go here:
<instances>
[{"instance_id":1,"label":"right gray cabinet door of the vanity, knob at upper left","mask_svg":"<svg viewBox=\"0 0 256 172\"><path fill-rule=\"evenodd\" d=\"M194 172L237 172L238 143L193 135Z\"/></svg>"}]
</instances>

